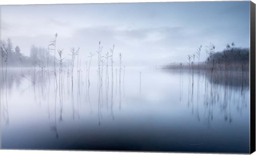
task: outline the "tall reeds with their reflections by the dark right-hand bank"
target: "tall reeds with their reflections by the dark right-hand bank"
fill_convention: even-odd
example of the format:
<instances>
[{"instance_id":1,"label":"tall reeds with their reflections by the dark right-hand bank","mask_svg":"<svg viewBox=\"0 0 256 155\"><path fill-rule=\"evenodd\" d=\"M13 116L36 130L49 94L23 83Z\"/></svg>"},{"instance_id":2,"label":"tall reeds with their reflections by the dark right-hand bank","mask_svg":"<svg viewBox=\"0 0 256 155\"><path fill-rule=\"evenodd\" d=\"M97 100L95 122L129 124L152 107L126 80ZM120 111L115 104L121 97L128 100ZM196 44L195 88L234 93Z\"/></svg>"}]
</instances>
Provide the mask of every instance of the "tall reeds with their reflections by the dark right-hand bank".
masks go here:
<instances>
[{"instance_id":1,"label":"tall reeds with their reflections by the dark right-hand bank","mask_svg":"<svg viewBox=\"0 0 256 155\"><path fill-rule=\"evenodd\" d=\"M188 80L188 105L191 105L191 110L192 114L194 113L194 69L195 69L195 55L198 60L198 74L197 74L197 108L196 108L196 113L197 113L197 119L200 121L199 116L199 110L198 110L198 103L200 101L203 101L203 105L205 107L205 111L207 112L206 120L207 124L210 127L210 122L213 120L213 113L214 113L214 105L215 104L220 104L221 111L223 111L223 118L225 121L228 121L231 123L233 121L233 118L231 116L231 110L230 110L230 104L231 104L231 97L233 95L230 90L233 90L233 85L239 85L241 86L241 95L242 97L242 104L244 105L244 95L246 91L244 90L244 85L245 85L245 80L246 78L244 77L244 66L248 61L246 61L246 56L247 53L243 53L242 50L239 51L239 56L242 58L239 58L240 61L242 61L242 67L241 67L241 72L242 72L242 77L239 75L234 76L234 74L237 74L238 70L236 73L234 73L232 70L230 70L231 66L231 61L230 61L230 53L233 53L233 51L237 50L235 48L235 44L231 43L231 45L227 44L226 46L227 50L224 51L223 53L218 53L221 55L221 57L216 54L215 52L215 45L210 43L209 46L206 46L205 52L207 54L207 60L204 62L204 72L200 73L201 68L201 62L200 62L200 55L202 52L202 46L199 46L196 50L196 53L193 55L188 55L188 68L189 68L189 80ZM239 50L239 48L238 48ZM229 54L229 55L228 55ZM240 55L241 54L241 55ZM245 56L244 56L244 55ZM219 57L218 57L219 56ZM243 58L244 56L244 58ZM241 60L242 59L242 60ZM245 59L245 60L243 60ZM221 62L220 62L221 61ZM224 70L222 68L222 64L224 63ZM244 65L244 66L243 66ZM180 69L182 68L182 65L180 65ZM204 85L201 85L201 75L203 75L204 78ZM180 75L181 76L181 75ZM237 79L236 79L237 78ZM236 80L236 81L234 81ZM181 83L181 78L180 78L180 83ZM203 83L202 83L203 84ZM224 85L224 87L221 87L221 85ZM181 84L180 84L181 85ZM204 95L203 95L203 100L200 99L200 89L201 86L204 87ZM180 89L181 86L180 86ZM181 90L180 90L181 91ZM243 92L243 93L242 93ZM204 116L205 117L205 116Z\"/></svg>"}]
</instances>

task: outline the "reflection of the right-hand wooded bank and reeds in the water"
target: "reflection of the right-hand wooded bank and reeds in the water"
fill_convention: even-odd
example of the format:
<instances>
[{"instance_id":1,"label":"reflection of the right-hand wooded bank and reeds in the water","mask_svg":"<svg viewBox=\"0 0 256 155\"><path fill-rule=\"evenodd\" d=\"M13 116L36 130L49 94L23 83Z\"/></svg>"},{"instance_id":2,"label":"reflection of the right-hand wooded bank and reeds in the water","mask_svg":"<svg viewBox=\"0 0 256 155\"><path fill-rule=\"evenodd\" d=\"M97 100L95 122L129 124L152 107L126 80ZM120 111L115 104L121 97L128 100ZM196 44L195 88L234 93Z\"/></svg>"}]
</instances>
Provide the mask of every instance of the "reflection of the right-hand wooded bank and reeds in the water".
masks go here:
<instances>
[{"instance_id":1,"label":"reflection of the right-hand wooded bank and reeds in the water","mask_svg":"<svg viewBox=\"0 0 256 155\"><path fill-rule=\"evenodd\" d=\"M180 100L183 83L181 78L183 71L180 71ZM220 110L223 120L227 123L233 122L233 112L231 107L236 106L237 112L241 113L249 103L249 72L234 71L195 71L193 68L187 71L188 74L188 107L194 115L194 90L196 89L196 118L201 120L201 113L207 127L211 127L214 120L214 110ZM194 77L197 81L195 84ZM196 85L196 87L195 87ZM201 92L200 90L204 90ZM239 94L238 94L239 92ZM203 98L203 109L200 108L201 97ZM234 105L233 105L234 104ZM200 111L203 110L203 111ZM236 115L236 114L235 114Z\"/></svg>"}]
</instances>

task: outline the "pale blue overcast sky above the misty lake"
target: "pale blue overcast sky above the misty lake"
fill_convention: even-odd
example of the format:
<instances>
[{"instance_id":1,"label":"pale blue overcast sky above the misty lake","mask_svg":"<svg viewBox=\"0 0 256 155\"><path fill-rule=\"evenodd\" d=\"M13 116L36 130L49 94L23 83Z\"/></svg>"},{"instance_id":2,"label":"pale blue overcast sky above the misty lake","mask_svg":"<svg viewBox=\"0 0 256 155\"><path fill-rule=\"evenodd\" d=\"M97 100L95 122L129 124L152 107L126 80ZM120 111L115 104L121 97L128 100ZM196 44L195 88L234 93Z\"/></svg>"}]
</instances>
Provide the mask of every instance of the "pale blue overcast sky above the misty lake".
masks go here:
<instances>
[{"instance_id":1,"label":"pale blue overcast sky above the misty lake","mask_svg":"<svg viewBox=\"0 0 256 155\"><path fill-rule=\"evenodd\" d=\"M31 45L47 47L58 33L57 48L68 59L70 47L90 52L115 44L126 66L186 62L196 48L213 43L217 51L234 42L250 46L250 2L170 2L1 6L1 39L29 55ZM205 59L205 52L202 59Z\"/></svg>"}]
</instances>

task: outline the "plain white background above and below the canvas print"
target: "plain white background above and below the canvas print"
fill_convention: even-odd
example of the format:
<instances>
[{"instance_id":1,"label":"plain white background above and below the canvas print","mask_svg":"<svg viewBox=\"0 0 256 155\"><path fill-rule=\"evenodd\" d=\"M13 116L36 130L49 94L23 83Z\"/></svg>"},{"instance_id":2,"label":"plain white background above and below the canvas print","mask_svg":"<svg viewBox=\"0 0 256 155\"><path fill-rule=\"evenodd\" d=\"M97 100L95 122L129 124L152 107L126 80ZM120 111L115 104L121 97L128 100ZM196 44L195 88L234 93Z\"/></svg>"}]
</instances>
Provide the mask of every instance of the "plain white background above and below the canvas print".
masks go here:
<instances>
[{"instance_id":1,"label":"plain white background above and below the canvas print","mask_svg":"<svg viewBox=\"0 0 256 155\"><path fill-rule=\"evenodd\" d=\"M179 2L188 2L184 1L184 0L177 0ZM175 1L175 2L177 2ZM194 0L194 1L198 1L198 0ZM205 1L205 0L204 0ZM219 1L219 0L215 0L215 1ZM37 1L33 1L33 0L1 0L0 1L0 5L10 5L10 4L77 4L77 3L130 3L130 2L174 2L174 1L168 1L168 0L37 0ZM256 0L252 0L252 2L256 3ZM189 138L189 137L188 137ZM74 155L79 155L79 154L94 154L94 155L100 155L100 154L106 154L106 155L125 155L125 154L132 154L132 155L159 155L159 154L167 154L167 153L152 153L152 152L103 152L103 151L30 151L30 150L0 150L0 154L28 154L28 155L34 155L34 154L47 154L47 155L51 155L51 154L61 154L61 155L70 155L70 154L74 154ZM168 154L177 154L177 153L168 153ZM178 153L181 155L185 155L188 153ZM191 153L189 153L191 154ZM194 153L196 154L196 153ZM255 152L253 153L254 155L256 154ZM204 154L202 154L204 155Z\"/></svg>"}]
</instances>

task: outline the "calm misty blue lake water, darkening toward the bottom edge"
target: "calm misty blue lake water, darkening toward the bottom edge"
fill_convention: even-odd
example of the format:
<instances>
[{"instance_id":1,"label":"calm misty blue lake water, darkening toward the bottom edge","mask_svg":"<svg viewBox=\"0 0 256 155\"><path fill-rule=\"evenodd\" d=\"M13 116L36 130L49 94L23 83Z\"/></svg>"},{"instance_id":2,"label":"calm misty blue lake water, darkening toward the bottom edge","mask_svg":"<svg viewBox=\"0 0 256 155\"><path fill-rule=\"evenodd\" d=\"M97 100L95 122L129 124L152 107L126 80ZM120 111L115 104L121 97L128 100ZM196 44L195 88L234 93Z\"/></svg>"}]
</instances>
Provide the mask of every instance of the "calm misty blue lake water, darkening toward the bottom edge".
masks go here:
<instances>
[{"instance_id":1,"label":"calm misty blue lake water, darkening toward the bottom edge","mask_svg":"<svg viewBox=\"0 0 256 155\"><path fill-rule=\"evenodd\" d=\"M36 74L34 85L33 69L10 69L1 88L2 148L249 153L248 74L225 80L126 68L120 80L119 70L113 75L106 80L103 71L99 87L97 70L90 86L85 72L80 82L74 72L72 89L67 72L56 88L53 75L49 83Z\"/></svg>"}]
</instances>

